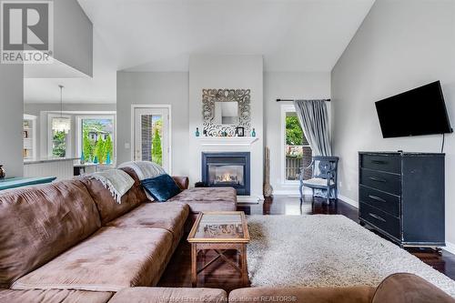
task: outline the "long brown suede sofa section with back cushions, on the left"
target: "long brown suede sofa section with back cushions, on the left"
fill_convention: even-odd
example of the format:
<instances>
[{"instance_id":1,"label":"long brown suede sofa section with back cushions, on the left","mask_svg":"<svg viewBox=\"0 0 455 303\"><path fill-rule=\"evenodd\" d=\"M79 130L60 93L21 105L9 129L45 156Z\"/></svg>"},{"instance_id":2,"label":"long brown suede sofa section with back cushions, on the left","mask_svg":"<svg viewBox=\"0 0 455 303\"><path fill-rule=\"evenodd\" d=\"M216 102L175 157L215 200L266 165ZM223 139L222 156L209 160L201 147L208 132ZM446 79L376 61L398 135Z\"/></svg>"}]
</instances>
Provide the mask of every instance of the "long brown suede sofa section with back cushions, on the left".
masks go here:
<instances>
[{"instance_id":1,"label":"long brown suede sofa section with back cushions, on the left","mask_svg":"<svg viewBox=\"0 0 455 303\"><path fill-rule=\"evenodd\" d=\"M103 301L106 294L99 292L155 286L184 234L192 203L193 213L237 209L233 188L220 190L226 197L217 207L207 202L207 190L187 190L187 177L175 177L184 189L182 201L152 203L134 171L124 170L135 184L120 204L88 178L0 194L0 288L9 288L4 296Z\"/></svg>"}]
</instances>

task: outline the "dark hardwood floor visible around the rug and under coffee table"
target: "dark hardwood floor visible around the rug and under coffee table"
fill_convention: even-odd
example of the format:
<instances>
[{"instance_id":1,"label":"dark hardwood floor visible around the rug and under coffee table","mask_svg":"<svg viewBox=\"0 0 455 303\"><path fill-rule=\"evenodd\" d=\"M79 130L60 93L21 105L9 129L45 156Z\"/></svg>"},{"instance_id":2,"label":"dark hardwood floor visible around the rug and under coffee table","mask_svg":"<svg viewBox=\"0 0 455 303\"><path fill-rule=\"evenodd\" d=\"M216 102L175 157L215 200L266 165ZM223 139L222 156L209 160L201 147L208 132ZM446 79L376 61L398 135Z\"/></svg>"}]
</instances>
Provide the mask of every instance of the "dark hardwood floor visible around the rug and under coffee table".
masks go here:
<instances>
[{"instance_id":1,"label":"dark hardwood floor visible around the rug and under coffee table","mask_svg":"<svg viewBox=\"0 0 455 303\"><path fill-rule=\"evenodd\" d=\"M322 199L305 197L305 203L300 207L298 197L279 196L267 199L263 204L241 205L238 210L244 211L247 215L343 215L358 222L358 210L349 204L339 200L338 203L331 203L329 206L323 203ZM446 251L442 254L431 249L408 249L411 254L420 258L423 262L439 270L446 276L455 279L455 255ZM237 254L227 253L233 261L237 261ZM214 258L215 254L208 252L205 261ZM199 260L198 267L202 267ZM169 262L163 277L158 283L161 287L191 287L191 250L187 244L187 237L183 237L174 256ZM241 288L240 275L237 270L231 268L222 260L217 260L198 276L198 287L223 288L227 292Z\"/></svg>"}]
</instances>

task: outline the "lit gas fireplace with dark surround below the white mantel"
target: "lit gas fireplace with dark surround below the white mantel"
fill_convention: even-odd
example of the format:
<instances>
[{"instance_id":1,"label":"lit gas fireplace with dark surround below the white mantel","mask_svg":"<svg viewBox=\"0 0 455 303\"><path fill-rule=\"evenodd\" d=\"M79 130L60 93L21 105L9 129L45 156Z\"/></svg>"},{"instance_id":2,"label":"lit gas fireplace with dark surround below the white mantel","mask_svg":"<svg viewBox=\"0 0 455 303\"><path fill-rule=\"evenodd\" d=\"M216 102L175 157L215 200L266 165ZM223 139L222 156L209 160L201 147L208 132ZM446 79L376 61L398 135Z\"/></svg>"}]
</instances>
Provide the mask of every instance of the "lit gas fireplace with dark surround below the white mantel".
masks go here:
<instances>
[{"instance_id":1,"label":"lit gas fireplace with dark surround below the white mantel","mask_svg":"<svg viewBox=\"0 0 455 303\"><path fill-rule=\"evenodd\" d=\"M249 196L249 153L202 153L202 182L207 187L234 187Z\"/></svg>"}]
</instances>

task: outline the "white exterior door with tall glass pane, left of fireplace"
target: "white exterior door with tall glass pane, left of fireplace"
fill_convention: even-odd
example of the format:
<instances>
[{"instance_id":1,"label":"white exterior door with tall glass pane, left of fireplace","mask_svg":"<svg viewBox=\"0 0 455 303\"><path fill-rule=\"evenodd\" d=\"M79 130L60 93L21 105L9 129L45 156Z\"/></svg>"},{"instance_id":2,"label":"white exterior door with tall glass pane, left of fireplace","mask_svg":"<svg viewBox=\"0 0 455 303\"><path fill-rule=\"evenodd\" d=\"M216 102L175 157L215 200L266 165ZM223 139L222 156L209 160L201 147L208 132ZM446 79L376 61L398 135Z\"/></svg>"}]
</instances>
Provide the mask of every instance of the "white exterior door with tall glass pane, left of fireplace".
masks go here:
<instances>
[{"instance_id":1,"label":"white exterior door with tall glass pane, left of fireplace","mask_svg":"<svg viewBox=\"0 0 455 303\"><path fill-rule=\"evenodd\" d=\"M134 117L134 160L155 162L169 173L169 108L135 107Z\"/></svg>"}]
</instances>

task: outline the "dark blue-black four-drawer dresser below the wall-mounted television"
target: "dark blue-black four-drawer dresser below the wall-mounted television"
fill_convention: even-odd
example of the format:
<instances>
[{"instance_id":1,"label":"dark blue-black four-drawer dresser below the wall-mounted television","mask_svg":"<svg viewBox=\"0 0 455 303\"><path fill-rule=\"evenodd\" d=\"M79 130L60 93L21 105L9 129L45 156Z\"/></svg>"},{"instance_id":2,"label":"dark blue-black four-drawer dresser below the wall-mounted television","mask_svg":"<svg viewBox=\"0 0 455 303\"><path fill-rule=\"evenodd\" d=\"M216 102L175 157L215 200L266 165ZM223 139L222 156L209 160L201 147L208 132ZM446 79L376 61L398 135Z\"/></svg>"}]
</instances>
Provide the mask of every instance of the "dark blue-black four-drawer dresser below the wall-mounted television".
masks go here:
<instances>
[{"instance_id":1,"label":"dark blue-black four-drawer dresser below the wall-mounted television","mask_svg":"<svg viewBox=\"0 0 455 303\"><path fill-rule=\"evenodd\" d=\"M359 152L360 223L401 247L444 247L444 157Z\"/></svg>"}]
</instances>

